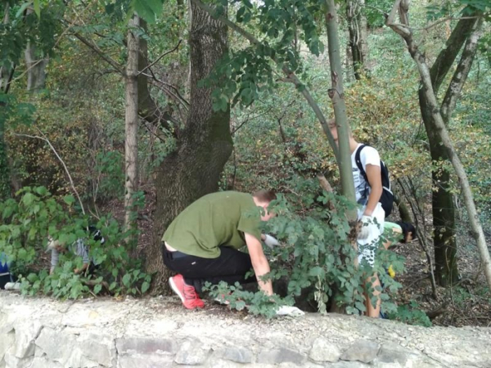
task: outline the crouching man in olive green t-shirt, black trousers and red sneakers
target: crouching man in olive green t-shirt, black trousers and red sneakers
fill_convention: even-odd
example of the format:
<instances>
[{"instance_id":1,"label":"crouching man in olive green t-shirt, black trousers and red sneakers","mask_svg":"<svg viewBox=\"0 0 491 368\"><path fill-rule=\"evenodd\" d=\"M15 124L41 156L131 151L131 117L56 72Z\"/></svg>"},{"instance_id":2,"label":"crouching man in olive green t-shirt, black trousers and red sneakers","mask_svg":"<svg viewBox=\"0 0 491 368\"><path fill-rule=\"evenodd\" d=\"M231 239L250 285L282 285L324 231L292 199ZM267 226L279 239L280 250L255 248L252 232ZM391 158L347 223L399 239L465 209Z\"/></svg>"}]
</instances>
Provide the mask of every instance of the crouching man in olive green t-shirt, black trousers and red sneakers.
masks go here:
<instances>
[{"instance_id":1,"label":"crouching man in olive green t-shirt, black trousers and red sneakers","mask_svg":"<svg viewBox=\"0 0 491 368\"><path fill-rule=\"evenodd\" d=\"M191 203L163 234L163 261L178 274L170 287L188 309L203 308L196 292L204 281L251 282L245 278L253 268L260 288L273 294L269 262L262 251L260 222L274 216L267 207L276 195L258 191L250 195L236 191L211 193ZM239 249L247 245L248 253Z\"/></svg>"}]
</instances>

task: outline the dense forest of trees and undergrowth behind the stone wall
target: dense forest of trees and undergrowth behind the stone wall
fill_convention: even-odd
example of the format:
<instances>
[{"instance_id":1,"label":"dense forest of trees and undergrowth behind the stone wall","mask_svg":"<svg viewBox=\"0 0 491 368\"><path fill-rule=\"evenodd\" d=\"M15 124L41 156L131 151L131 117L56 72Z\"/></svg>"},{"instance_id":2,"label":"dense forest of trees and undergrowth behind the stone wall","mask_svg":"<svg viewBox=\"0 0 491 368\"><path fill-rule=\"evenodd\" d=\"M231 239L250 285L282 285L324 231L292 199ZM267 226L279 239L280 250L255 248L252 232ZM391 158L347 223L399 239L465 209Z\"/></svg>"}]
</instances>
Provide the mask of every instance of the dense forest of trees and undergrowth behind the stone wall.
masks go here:
<instances>
[{"instance_id":1,"label":"dense forest of trees and undergrowth behind the stone wall","mask_svg":"<svg viewBox=\"0 0 491 368\"><path fill-rule=\"evenodd\" d=\"M272 189L277 293L363 314L351 131L389 169L388 220L417 229L377 252L382 311L491 325L489 0L0 0L0 15L0 254L22 294L169 294L177 214ZM48 243L79 238L96 276L70 254L49 272ZM232 310L271 315L229 290Z\"/></svg>"}]
</instances>

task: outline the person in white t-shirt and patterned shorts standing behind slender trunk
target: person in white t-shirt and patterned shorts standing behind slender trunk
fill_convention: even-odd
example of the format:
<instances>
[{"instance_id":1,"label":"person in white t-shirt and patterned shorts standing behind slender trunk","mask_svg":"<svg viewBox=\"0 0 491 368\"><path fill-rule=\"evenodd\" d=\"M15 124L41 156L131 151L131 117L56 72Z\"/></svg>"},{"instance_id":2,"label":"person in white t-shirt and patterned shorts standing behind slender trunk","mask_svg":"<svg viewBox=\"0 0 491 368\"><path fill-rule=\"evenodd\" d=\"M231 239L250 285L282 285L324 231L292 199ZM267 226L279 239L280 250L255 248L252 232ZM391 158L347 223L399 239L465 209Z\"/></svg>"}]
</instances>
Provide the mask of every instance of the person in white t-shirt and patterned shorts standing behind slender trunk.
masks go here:
<instances>
[{"instance_id":1,"label":"person in white t-shirt and patterned shorts standing behind slender trunk","mask_svg":"<svg viewBox=\"0 0 491 368\"><path fill-rule=\"evenodd\" d=\"M329 128L337 144L337 126L335 119L329 121ZM380 172L380 156L376 149L365 146L360 152L360 160L368 178L368 183L358 169L355 162L356 151L361 143L356 142L349 133L349 149L351 151L351 167L355 186L356 202L362 205L358 210L358 220L361 229L358 232L358 264L373 267L375 250L379 245L379 238L384 231L385 212L379 203L382 196L382 176ZM365 289L370 288L371 293L365 291L365 307L369 317L378 318L380 315L380 292L377 287L380 280L377 273L370 274L365 279ZM377 298L375 306L370 301L369 294Z\"/></svg>"}]
</instances>

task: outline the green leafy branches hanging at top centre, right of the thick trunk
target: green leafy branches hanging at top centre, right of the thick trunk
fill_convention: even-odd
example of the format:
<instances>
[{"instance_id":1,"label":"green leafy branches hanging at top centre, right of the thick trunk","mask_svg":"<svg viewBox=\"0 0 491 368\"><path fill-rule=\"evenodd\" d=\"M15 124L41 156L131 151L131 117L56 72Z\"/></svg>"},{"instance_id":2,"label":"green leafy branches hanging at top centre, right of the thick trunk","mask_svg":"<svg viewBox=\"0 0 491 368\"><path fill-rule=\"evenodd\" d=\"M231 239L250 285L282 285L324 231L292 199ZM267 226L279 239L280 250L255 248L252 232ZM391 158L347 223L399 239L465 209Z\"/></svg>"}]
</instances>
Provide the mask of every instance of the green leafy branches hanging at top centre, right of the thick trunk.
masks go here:
<instances>
[{"instance_id":1,"label":"green leafy branches hanging at top centre, right of the thick trunk","mask_svg":"<svg viewBox=\"0 0 491 368\"><path fill-rule=\"evenodd\" d=\"M226 3L226 2L225 2ZM214 109L226 109L239 102L248 106L260 92L269 90L277 79L275 71L283 66L302 73L302 58L295 48L295 39L304 41L314 55L323 53L321 34L324 27L322 4L317 1L264 1L253 4L248 0L236 4L236 22L241 27L257 27L260 44L232 50L224 57L206 83L217 88L213 94ZM223 7L217 7L223 13ZM277 66L272 66L273 60Z\"/></svg>"}]
</instances>

